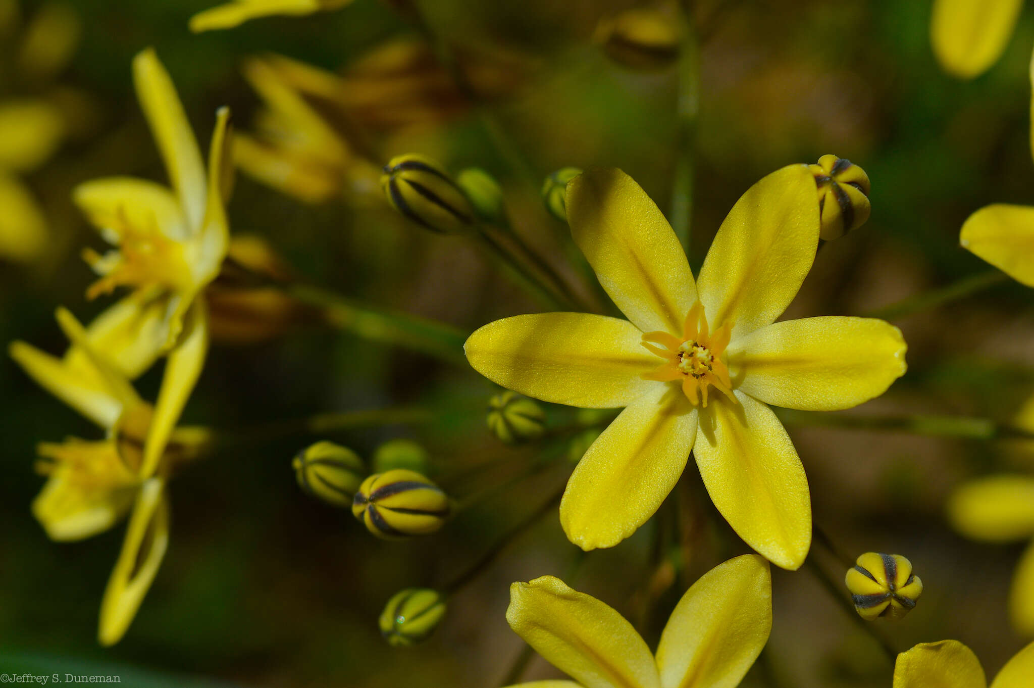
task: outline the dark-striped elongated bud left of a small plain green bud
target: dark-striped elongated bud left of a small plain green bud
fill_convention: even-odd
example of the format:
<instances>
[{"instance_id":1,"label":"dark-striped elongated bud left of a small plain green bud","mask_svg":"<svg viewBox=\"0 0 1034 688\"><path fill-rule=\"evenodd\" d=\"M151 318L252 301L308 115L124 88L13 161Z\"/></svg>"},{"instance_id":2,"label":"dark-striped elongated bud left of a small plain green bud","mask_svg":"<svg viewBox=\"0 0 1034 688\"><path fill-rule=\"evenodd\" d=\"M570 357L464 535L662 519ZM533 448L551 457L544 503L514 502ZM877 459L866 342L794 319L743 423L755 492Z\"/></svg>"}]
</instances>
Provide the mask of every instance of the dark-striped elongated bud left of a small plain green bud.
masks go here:
<instances>
[{"instance_id":1,"label":"dark-striped elongated bud left of a small plain green bud","mask_svg":"<svg viewBox=\"0 0 1034 688\"><path fill-rule=\"evenodd\" d=\"M445 169L423 155L399 155L384 168L381 187L388 203L436 234L460 234L474 227L474 208Z\"/></svg>"}]
</instances>

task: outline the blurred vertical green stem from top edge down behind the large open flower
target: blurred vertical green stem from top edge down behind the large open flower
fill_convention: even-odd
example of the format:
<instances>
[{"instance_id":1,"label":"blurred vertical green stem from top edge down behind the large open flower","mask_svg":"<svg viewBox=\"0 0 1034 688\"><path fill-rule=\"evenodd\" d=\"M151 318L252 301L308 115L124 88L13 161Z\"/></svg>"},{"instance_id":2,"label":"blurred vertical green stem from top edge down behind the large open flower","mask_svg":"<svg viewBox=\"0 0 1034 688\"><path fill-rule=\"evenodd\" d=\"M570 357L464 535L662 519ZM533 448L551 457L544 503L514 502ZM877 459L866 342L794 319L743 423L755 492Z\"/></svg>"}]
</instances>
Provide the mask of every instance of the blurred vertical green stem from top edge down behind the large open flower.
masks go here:
<instances>
[{"instance_id":1,"label":"blurred vertical green stem from top edge down behind the large open flower","mask_svg":"<svg viewBox=\"0 0 1034 688\"><path fill-rule=\"evenodd\" d=\"M697 115L700 113L700 46L693 14L682 11L681 56L678 60L678 99L675 104L675 174L671 189L671 227L689 255L693 221L694 162Z\"/></svg>"}]
</instances>

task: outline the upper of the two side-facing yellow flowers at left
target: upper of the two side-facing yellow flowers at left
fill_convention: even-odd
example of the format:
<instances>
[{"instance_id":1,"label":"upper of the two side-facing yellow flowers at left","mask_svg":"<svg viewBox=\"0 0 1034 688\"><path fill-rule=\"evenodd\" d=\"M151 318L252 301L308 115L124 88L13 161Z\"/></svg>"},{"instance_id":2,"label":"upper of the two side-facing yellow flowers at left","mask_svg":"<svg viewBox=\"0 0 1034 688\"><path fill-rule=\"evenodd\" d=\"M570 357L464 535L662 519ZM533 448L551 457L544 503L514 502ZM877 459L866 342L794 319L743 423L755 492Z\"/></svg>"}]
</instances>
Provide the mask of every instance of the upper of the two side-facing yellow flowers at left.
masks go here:
<instances>
[{"instance_id":1,"label":"upper of the two side-facing yellow flowers at left","mask_svg":"<svg viewBox=\"0 0 1034 688\"><path fill-rule=\"evenodd\" d=\"M172 351L144 448L141 475L147 478L204 365L208 316L199 297L219 274L226 256L230 231L223 200L230 193L233 167L226 151L226 108L217 113L206 177L176 88L153 50L135 57L133 79L173 188L146 179L109 177L80 184L74 200L117 246L102 256L86 251L86 260L101 275L87 296L127 286L140 302L165 302L163 347Z\"/></svg>"}]
</instances>

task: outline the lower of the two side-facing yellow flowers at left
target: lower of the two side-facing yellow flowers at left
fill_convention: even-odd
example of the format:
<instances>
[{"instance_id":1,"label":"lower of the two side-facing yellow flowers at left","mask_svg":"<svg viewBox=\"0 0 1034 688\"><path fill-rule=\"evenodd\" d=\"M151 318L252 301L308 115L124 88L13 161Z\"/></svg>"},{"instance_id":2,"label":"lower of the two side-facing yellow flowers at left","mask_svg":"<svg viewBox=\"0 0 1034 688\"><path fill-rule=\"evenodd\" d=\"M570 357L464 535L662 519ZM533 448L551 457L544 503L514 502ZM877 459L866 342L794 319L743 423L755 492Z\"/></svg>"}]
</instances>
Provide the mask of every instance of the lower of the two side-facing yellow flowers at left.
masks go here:
<instances>
[{"instance_id":1,"label":"lower of the two side-facing yellow flowers at left","mask_svg":"<svg viewBox=\"0 0 1034 688\"><path fill-rule=\"evenodd\" d=\"M152 347L150 354L141 356L135 343L141 313L126 301L86 329L67 310L59 309L58 323L71 341L61 359L25 342L10 346L11 357L30 377L107 431L101 441L70 438L40 444L38 466L49 478L32 503L33 515L54 540L91 537L131 510L100 608L98 637L105 646L118 642L129 627L164 556L165 479L209 440L204 428L177 428L158 447L162 460L157 475L141 477L143 450L154 431L154 410L136 394L129 377L148 367L156 352Z\"/></svg>"}]
</instances>

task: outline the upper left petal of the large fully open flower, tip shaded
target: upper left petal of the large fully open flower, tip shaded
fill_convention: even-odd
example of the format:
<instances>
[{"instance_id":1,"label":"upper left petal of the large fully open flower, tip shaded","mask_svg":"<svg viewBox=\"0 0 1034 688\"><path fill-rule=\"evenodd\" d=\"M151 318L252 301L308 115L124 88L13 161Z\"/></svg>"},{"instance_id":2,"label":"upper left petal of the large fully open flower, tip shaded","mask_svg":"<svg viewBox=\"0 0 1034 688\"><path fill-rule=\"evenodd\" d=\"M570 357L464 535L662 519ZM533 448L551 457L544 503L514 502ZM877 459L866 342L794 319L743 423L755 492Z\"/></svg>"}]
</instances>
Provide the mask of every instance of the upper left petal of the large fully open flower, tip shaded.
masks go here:
<instances>
[{"instance_id":1,"label":"upper left petal of the large fully open flower, tip shaded","mask_svg":"<svg viewBox=\"0 0 1034 688\"><path fill-rule=\"evenodd\" d=\"M620 170L588 170L568 184L567 210L575 243L621 312L643 332L681 333L697 300L693 273L639 184Z\"/></svg>"}]
</instances>

